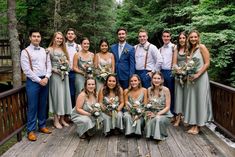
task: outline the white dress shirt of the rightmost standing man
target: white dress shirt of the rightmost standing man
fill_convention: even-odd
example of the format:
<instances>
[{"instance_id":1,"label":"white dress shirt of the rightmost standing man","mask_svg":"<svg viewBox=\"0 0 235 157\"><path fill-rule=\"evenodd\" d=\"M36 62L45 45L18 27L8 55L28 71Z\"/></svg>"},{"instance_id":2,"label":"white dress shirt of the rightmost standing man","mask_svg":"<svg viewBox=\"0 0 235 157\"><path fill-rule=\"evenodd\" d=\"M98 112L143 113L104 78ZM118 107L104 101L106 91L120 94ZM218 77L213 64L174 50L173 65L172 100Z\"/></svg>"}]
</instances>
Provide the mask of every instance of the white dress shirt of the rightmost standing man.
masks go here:
<instances>
[{"instance_id":1,"label":"white dress shirt of the rightmost standing man","mask_svg":"<svg viewBox=\"0 0 235 157\"><path fill-rule=\"evenodd\" d=\"M169 42L167 45L163 45L160 48L160 52L163 58L162 69L164 70L171 70L174 46L174 44Z\"/></svg>"}]
</instances>

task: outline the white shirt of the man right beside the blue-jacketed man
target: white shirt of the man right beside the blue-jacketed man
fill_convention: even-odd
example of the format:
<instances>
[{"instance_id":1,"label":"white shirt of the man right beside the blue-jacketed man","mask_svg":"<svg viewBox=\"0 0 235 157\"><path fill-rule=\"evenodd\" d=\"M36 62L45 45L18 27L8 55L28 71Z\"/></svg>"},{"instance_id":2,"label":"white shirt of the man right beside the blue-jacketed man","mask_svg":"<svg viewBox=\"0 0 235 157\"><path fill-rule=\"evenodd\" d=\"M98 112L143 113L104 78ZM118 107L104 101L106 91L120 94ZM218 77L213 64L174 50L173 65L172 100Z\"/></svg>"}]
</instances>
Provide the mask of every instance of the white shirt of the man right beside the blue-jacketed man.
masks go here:
<instances>
[{"instance_id":1,"label":"white shirt of the man right beside the blue-jacketed man","mask_svg":"<svg viewBox=\"0 0 235 157\"><path fill-rule=\"evenodd\" d=\"M162 56L158 50L158 48L146 42L144 45L135 45L135 68L136 70L149 70L152 72L160 70L162 64ZM148 48L149 46L149 48ZM148 56L147 56L147 63L145 69L145 60L146 60L146 49L148 48Z\"/></svg>"}]
</instances>

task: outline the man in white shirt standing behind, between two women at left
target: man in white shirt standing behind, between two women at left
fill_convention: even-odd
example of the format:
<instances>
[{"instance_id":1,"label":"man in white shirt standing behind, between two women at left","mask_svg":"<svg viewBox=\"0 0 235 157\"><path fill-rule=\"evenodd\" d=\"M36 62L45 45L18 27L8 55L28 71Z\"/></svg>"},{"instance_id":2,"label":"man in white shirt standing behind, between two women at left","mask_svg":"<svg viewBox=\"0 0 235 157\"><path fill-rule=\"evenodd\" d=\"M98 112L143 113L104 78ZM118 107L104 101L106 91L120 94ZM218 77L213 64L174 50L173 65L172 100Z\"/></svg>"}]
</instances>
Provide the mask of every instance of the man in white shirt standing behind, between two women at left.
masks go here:
<instances>
[{"instance_id":1,"label":"man in white shirt standing behind, between two women at left","mask_svg":"<svg viewBox=\"0 0 235 157\"><path fill-rule=\"evenodd\" d=\"M66 31L66 48L69 53L69 66L70 66L70 72L69 72L69 89L70 89L70 95L71 95L71 102L72 107L75 106L76 98L75 98L75 73L73 71L73 57L75 53L81 51L81 46L75 42L77 36L76 36L76 30L74 28L69 28Z\"/></svg>"}]
</instances>

